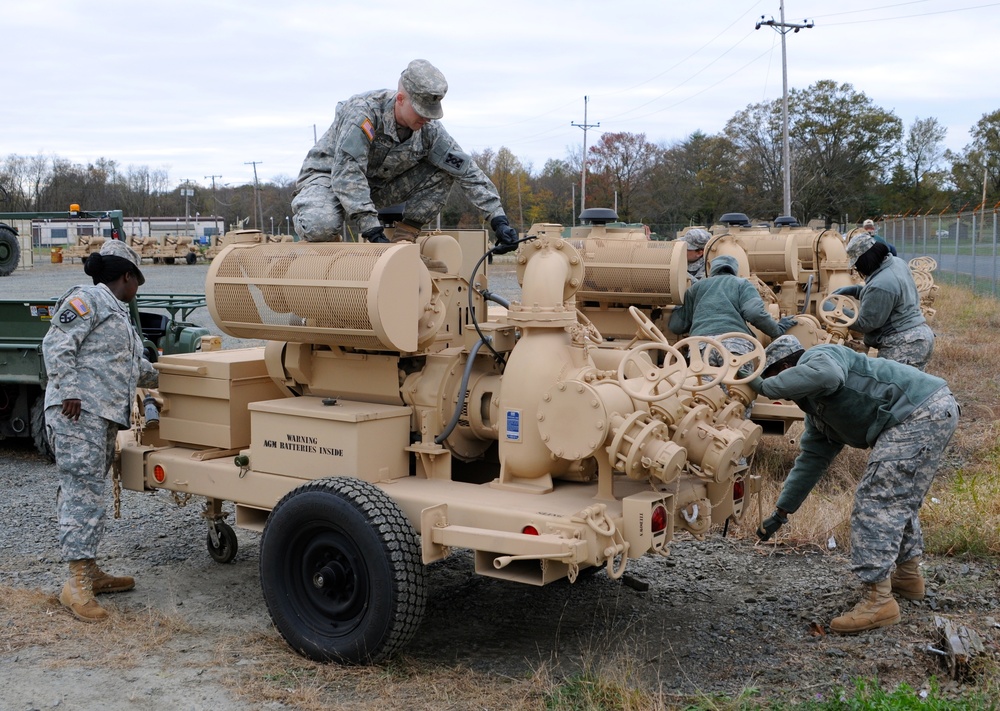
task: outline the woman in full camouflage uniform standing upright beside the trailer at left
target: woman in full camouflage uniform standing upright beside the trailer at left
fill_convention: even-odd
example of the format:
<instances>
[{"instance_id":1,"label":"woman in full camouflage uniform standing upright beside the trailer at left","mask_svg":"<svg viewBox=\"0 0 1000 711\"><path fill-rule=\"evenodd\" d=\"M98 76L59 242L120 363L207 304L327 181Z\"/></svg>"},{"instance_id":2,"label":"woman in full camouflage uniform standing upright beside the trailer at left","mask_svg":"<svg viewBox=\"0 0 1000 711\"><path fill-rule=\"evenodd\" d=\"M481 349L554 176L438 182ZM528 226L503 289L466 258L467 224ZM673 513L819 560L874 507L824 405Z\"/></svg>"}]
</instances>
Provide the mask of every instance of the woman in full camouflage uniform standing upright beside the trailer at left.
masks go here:
<instances>
[{"instance_id":1,"label":"woman in full camouflage uniform standing upright beside the trailer at left","mask_svg":"<svg viewBox=\"0 0 1000 711\"><path fill-rule=\"evenodd\" d=\"M127 306L145 281L139 256L109 240L87 258L84 271L94 285L73 287L59 298L42 352L49 378L46 428L59 469L59 543L70 567L59 601L77 618L96 622L107 612L95 593L135 587L131 577L97 566L97 546L115 438L130 426L136 386L155 387L157 372L143 357Z\"/></svg>"}]
</instances>

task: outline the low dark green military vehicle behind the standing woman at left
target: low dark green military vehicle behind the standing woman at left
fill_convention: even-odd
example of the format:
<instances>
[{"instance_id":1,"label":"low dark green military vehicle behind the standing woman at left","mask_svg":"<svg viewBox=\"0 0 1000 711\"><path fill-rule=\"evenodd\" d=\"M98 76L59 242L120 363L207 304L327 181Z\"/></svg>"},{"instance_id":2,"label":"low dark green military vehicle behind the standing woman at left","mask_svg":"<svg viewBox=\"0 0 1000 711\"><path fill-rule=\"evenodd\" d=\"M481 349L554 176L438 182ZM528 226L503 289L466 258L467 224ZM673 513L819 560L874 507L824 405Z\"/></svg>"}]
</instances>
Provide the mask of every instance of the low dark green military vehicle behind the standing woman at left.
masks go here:
<instances>
[{"instance_id":1,"label":"low dark green military vehicle behind the standing woman at left","mask_svg":"<svg viewBox=\"0 0 1000 711\"><path fill-rule=\"evenodd\" d=\"M211 332L187 323L202 295L142 294L132 303L133 322L141 330L146 357L201 350ZM0 440L30 437L51 457L45 437L45 362L42 339L49 330L56 299L0 299ZM162 309L167 314L149 309Z\"/></svg>"}]
</instances>

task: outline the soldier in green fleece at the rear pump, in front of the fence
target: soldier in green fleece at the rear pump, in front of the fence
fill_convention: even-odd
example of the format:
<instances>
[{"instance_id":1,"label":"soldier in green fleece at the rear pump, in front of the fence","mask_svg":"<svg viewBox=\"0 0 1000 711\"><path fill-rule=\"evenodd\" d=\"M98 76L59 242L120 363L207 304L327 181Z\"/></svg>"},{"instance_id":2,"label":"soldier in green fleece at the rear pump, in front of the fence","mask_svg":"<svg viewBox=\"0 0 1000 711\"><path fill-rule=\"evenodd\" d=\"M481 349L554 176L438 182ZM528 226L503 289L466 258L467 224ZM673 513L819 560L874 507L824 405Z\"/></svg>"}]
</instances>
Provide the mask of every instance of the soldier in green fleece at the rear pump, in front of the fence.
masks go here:
<instances>
[{"instance_id":1,"label":"soldier in green fleece at the rear pump, in front of the fence","mask_svg":"<svg viewBox=\"0 0 1000 711\"><path fill-rule=\"evenodd\" d=\"M864 285L844 286L833 292L861 303L851 329L863 333L865 345L877 348L880 358L926 368L934 351L934 332L920 309L920 294L909 266L869 232L851 240L847 255L851 266L865 278Z\"/></svg>"}]
</instances>

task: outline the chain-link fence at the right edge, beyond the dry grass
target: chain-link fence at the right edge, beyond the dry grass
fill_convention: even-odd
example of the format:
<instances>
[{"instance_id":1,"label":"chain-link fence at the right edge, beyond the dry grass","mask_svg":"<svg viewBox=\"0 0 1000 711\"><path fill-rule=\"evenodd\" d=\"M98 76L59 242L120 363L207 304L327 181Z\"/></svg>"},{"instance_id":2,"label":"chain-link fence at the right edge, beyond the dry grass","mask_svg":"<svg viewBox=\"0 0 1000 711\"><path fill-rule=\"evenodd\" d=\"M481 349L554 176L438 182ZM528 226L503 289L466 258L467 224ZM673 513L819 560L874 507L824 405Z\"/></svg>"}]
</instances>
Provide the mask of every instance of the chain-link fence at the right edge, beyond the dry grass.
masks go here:
<instances>
[{"instance_id":1,"label":"chain-link fence at the right edge, beyond the dry grass","mask_svg":"<svg viewBox=\"0 0 1000 711\"><path fill-rule=\"evenodd\" d=\"M879 232L904 259L933 257L938 283L956 284L993 298L998 287L997 212L889 217Z\"/></svg>"}]
</instances>

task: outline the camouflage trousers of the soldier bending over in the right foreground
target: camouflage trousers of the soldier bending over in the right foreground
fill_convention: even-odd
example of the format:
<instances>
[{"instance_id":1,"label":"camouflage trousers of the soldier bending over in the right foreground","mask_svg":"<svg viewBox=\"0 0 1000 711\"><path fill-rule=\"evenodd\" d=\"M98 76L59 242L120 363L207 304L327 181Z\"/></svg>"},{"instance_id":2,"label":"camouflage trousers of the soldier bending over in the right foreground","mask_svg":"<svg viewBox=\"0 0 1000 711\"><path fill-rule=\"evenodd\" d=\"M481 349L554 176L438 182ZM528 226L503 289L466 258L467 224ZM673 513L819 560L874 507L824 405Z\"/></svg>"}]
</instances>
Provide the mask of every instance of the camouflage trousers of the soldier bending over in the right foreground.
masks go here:
<instances>
[{"instance_id":1,"label":"camouflage trousers of the soldier bending over in the right foreground","mask_svg":"<svg viewBox=\"0 0 1000 711\"><path fill-rule=\"evenodd\" d=\"M947 387L882 432L854 494L851 569L866 583L885 580L893 565L923 554L918 512L944 449L958 426Z\"/></svg>"}]
</instances>

